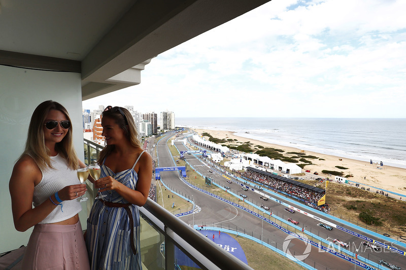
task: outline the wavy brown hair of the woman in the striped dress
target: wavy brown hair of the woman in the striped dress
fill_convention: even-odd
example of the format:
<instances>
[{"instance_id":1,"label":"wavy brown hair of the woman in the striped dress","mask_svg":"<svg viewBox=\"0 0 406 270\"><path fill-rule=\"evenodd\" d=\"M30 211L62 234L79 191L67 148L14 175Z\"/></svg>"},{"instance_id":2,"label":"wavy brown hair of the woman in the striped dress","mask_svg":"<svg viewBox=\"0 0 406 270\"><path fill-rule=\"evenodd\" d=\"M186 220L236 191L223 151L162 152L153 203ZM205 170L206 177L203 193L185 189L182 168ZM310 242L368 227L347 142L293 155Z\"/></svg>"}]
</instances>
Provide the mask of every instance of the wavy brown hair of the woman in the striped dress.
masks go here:
<instances>
[{"instance_id":1,"label":"wavy brown hair of the woman in the striped dress","mask_svg":"<svg viewBox=\"0 0 406 270\"><path fill-rule=\"evenodd\" d=\"M124 131L125 137L132 146L142 146L141 141L138 139L136 123L134 122L131 113L126 108L108 106L108 108L101 113L101 118L104 117L112 119L114 123ZM97 163L101 164L114 150L114 147L114 145L106 145L105 148L101 150Z\"/></svg>"}]
</instances>

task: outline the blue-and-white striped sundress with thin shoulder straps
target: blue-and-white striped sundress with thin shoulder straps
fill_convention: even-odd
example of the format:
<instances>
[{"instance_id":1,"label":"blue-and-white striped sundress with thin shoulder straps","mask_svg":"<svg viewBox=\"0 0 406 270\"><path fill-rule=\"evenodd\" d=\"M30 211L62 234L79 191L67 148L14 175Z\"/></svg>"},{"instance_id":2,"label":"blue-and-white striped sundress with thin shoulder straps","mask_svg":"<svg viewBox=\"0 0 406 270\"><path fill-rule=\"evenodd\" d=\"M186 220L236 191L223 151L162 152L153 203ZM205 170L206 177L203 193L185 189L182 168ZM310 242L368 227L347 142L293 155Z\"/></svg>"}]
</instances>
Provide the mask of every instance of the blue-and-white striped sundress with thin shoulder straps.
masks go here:
<instances>
[{"instance_id":1,"label":"blue-and-white striped sundress with thin shoulder straps","mask_svg":"<svg viewBox=\"0 0 406 270\"><path fill-rule=\"evenodd\" d=\"M138 175L134 167L143 151L131 169L114 173L109 167L100 166L101 177L112 176L125 186L136 189ZM105 201L113 203L128 203L116 191L104 191ZM140 252L140 215L138 206L129 206L134 220L134 245L137 254L134 255L130 246L130 223L128 214L122 207L108 207L100 200L93 203L87 219L86 247L89 254L90 268L106 270L141 270Z\"/></svg>"}]
</instances>

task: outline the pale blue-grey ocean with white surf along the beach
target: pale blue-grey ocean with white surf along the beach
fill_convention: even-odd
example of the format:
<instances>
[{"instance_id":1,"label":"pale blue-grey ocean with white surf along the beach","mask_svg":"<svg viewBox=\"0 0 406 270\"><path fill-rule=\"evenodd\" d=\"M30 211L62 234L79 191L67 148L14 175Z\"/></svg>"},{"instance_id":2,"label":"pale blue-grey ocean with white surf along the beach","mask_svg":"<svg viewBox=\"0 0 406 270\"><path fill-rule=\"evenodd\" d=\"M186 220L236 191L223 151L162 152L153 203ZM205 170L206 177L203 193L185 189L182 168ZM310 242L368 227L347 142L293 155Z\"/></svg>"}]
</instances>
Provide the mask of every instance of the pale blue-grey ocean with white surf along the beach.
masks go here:
<instances>
[{"instance_id":1,"label":"pale blue-grey ocean with white surf along the beach","mask_svg":"<svg viewBox=\"0 0 406 270\"><path fill-rule=\"evenodd\" d=\"M406 119L176 118L176 126L406 168Z\"/></svg>"}]
</instances>

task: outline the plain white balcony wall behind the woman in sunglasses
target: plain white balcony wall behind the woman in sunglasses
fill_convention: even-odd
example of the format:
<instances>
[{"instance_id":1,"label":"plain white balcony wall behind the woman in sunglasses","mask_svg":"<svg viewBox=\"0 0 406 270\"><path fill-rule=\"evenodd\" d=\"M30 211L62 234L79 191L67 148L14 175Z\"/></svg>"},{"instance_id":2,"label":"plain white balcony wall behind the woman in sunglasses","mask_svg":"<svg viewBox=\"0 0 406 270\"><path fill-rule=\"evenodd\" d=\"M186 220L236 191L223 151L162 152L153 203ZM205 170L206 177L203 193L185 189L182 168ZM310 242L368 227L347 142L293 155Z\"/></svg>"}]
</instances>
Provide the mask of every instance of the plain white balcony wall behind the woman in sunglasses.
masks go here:
<instances>
[{"instance_id":1,"label":"plain white balcony wall behind the woman in sunglasses","mask_svg":"<svg viewBox=\"0 0 406 270\"><path fill-rule=\"evenodd\" d=\"M31 114L45 100L61 103L69 111L74 143L84 160L81 75L0 65L0 253L27 245L32 228L21 233L14 228L9 180L15 161L24 149ZM80 213L86 227L86 203Z\"/></svg>"}]
</instances>

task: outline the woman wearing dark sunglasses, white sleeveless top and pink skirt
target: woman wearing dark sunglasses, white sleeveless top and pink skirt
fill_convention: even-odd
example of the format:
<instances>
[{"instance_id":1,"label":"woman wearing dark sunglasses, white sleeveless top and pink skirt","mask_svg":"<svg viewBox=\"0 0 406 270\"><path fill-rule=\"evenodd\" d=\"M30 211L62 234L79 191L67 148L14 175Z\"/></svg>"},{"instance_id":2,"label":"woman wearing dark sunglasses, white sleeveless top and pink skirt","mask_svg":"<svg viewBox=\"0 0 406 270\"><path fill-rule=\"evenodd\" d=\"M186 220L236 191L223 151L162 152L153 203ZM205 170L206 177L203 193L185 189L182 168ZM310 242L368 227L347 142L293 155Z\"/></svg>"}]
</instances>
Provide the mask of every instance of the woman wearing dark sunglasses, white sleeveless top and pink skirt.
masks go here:
<instances>
[{"instance_id":1,"label":"woman wearing dark sunglasses, white sleeveless top and pink skirt","mask_svg":"<svg viewBox=\"0 0 406 270\"><path fill-rule=\"evenodd\" d=\"M78 215L82 207L74 200L86 192L78 184L79 164L66 109L52 100L41 103L9 183L15 228L25 232L34 226L22 269L90 268Z\"/></svg>"}]
</instances>

